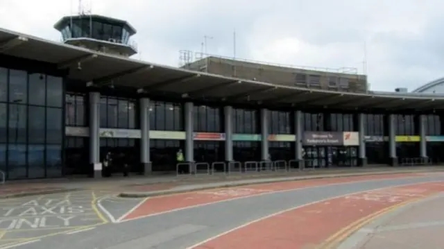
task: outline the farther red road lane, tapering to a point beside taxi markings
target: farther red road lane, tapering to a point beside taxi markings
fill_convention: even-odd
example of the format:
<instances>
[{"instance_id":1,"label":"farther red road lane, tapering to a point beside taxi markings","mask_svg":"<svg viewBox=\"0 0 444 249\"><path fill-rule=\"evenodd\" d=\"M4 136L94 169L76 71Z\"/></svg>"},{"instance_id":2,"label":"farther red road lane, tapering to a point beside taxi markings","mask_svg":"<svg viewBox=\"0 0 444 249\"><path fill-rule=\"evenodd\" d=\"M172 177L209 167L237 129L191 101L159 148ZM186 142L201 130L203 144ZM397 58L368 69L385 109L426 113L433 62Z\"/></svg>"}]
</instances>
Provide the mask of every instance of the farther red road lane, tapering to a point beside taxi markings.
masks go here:
<instances>
[{"instance_id":1,"label":"farther red road lane, tapering to a point beside taxi markings","mask_svg":"<svg viewBox=\"0 0 444 249\"><path fill-rule=\"evenodd\" d=\"M255 184L246 187L232 187L225 189L212 189L207 191L196 191L185 194L173 194L169 196L158 196L148 198L132 212L121 218L121 221L129 221L135 218L144 218L154 214L169 212L196 205L217 203L223 200L232 200L258 194L271 193L275 191L286 191L304 187L316 187L327 184L340 184L365 180L384 180L393 178L408 178L424 176L420 173L404 173L396 175L361 175L348 178L323 178L317 180L300 180L294 182L274 182L267 184Z\"/></svg>"}]
</instances>

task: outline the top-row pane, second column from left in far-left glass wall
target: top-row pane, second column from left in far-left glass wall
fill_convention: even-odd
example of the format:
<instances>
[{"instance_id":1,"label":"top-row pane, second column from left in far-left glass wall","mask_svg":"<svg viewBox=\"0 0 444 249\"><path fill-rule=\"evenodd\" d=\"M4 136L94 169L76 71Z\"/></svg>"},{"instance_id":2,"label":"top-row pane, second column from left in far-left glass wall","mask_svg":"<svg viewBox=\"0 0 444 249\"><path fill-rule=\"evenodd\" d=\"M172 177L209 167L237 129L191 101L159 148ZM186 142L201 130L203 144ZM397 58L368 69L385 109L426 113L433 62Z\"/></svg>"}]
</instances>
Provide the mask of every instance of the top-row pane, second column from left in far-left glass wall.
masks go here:
<instances>
[{"instance_id":1,"label":"top-row pane, second column from left in far-left glass wall","mask_svg":"<svg viewBox=\"0 0 444 249\"><path fill-rule=\"evenodd\" d=\"M28 97L27 78L26 71L9 71L9 102L26 103Z\"/></svg>"}]
</instances>

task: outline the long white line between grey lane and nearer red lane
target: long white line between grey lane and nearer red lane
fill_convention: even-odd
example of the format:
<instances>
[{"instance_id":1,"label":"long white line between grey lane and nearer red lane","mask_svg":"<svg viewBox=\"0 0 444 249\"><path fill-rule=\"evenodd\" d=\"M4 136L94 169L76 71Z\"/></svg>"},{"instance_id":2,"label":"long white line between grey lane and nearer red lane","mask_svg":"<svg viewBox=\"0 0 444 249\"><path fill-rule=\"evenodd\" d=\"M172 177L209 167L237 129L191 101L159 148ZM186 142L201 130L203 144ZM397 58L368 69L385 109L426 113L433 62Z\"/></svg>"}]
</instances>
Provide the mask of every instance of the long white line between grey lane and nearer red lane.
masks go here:
<instances>
[{"instance_id":1,"label":"long white line between grey lane and nearer red lane","mask_svg":"<svg viewBox=\"0 0 444 249\"><path fill-rule=\"evenodd\" d=\"M433 181L433 182L441 182L441 181ZM427 184L427 182L420 182L420 183L413 183L413 184L412 184L412 183L408 183L408 184L400 184L400 185L395 185L395 186L391 186L391 187L382 187L382 188L371 189L371 190L357 191L357 192L355 192L355 193L351 193L351 194L343 194L343 195L341 195L341 196L334 196L334 197L332 197L332 198L326 198L326 199L323 199L323 200L317 200L317 201L314 201L314 202L312 202L312 203L307 203L307 204L305 204L305 205L300 205L300 206L298 206L298 207L291 207L291 208L289 208L289 209L281 210L280 212L275 212L275 213L273 213L273 214L269 214L269 215L267 215L267 216L264 216L264 217L261 217L261 218L257 218L257 219L255 219L255 220L253 220L253 221L248 222L248 223L244 223L243 225L239 225L239 226L234 227L234 228L232 228L232 229L230 229L230 230L228 230L228 231L222 232L222 233L217 234L217 235L215 235L215 236L213 236L213 237L210 237L210 238L208 238L208 239L205 239L204 241L200 241L199 243L196 243L196 244L194 244L193 246L189 246L189 247L187 247L187 248L185 248L185 249L194 249L194 248L196 248L196 247L198 247L198 246L202 246L203 244L205 244L205 243L207 243L207 242L209 242L209 241L212 241L212 240L217 239L217 238L219 238L219 237L222 237L222 236L224 236L224 235L226 235L226 234L229 234L230 232L234 232L234 231L236 231L236 230L239 230L239 229L241 229L241 228L243 228L243 227L246 227L246 226L248 226L248 225L251 225L251 224L253 224L253 223L257 223L257 222L259 222L259 221L263 221L263 220L265 220L266 218L271 218L271 217L273 217L273 216L277 216L277 215L279 215L279 214L283 214L283 213L285 213L285 212L290 212L290 211L293 211L293 210L296 210L296 209L300 209L300 208L302 208L302 207L307 207L307 206L309 206L309 205L313 205L313 204L316 204L316 203L322 203L322 202L324 202L325 200L333 200L333 199L336 199L336 198L343 198L343 197L350 196L350 195L352 195L352 194L361 194L361 193L365 193L365 192L368 192L368 191L375 191L375 190L380 190L380 189L389 189L389 188L393 188L393 187L402 187L402 186L409 186L409 185L416 185L416 184Z\"/></svg>"}]
</instances>

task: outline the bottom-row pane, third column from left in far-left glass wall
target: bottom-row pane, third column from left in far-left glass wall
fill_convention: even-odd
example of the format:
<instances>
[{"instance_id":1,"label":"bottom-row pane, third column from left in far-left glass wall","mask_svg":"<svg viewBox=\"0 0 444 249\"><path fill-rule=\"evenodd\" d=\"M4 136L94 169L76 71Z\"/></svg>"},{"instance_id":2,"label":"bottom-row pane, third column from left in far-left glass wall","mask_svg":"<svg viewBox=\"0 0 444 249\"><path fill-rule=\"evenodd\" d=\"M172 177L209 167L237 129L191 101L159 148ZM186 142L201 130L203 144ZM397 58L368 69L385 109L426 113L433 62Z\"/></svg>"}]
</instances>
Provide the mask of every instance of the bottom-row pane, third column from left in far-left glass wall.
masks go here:
<instances>
[{"instance_id":1,"label":"bottom-row pane, third column from left in far-left glass wall","mask_svg":"<svg viewBox=\"0 0 444 249\"><path fill-rule=\"evenodd\" d=\"M28 178L44 178L44 145L28 145Z\"/></svg>"}]
</instances>

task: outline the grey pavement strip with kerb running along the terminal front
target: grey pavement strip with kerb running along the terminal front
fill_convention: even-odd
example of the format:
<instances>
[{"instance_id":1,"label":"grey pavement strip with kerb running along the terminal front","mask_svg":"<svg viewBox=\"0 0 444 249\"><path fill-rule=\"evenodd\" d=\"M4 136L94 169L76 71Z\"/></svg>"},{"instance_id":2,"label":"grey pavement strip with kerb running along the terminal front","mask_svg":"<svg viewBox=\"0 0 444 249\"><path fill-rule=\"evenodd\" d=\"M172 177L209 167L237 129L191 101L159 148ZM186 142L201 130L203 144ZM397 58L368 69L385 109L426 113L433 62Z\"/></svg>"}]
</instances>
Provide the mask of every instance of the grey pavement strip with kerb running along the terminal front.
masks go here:
<instances>
[{"instance_id":1,"label":"grey pavement strip with kerb running along the terminal front","mask_svg":"<svg viewBox=\"0 0 444 249\"><path fill-rule=\"evenodd\" d=\"M119 192L122 197L142 198L181 193L217 187L234 187L261 182L280 182L315 178L348 177L393 173L421 173L444 171L444 166L392 167L368 166L364 168L316 169L309 171L278 171L264 173L232 173L225 175L135 175L130 178L82 178L16 180L0 185L0 199L64 193L79 190Z\"/></svg>"}]
</instances>

